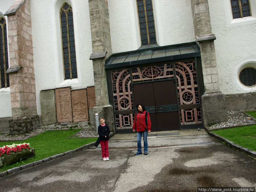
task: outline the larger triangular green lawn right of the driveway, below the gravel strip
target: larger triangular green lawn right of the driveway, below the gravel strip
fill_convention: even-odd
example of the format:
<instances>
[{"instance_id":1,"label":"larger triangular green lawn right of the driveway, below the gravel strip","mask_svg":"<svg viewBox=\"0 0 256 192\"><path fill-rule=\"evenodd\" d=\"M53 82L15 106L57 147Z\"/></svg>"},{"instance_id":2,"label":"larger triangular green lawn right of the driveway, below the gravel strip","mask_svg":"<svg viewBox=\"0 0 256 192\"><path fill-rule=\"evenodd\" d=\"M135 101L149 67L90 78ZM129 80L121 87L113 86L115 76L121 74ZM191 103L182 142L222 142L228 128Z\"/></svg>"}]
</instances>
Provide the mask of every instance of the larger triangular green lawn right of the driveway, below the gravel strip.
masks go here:
<instances>
[{"instance_id":1,"label":"larger triangular green lawn right of the driveway, below the gravel strip","mask_svg":"<svg viewBox=\"0 0 256 192\"><path fill-rule=\"evenodd\" d=\"M256 125L212 130L229 141L256 151Z\"/></svg>"}]
</instances>

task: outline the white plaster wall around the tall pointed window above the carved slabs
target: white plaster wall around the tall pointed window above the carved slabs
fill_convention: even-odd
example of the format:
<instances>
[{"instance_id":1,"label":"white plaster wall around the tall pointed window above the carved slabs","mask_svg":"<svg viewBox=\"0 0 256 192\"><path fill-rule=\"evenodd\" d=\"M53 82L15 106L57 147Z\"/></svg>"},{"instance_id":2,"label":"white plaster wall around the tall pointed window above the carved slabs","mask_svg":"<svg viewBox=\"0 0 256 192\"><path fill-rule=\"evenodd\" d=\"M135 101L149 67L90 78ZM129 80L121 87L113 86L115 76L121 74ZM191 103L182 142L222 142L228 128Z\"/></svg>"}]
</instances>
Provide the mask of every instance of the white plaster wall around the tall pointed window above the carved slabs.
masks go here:
<instances>
[{"instance_id":1,"label":"white plaster wall around the tall pointed window above the carved slabs","mask_svg":"<svg viewBox=\"0 0 256 192\"><path fill-rule=\"evenodd\" d=\"M64 81L59 10L64 2L73 9L78 78ZM36 103L41 114L40 91L71 86L72 89L94 85L90 15L88 1L30 1Z\"/></svg>"}]
</instances>

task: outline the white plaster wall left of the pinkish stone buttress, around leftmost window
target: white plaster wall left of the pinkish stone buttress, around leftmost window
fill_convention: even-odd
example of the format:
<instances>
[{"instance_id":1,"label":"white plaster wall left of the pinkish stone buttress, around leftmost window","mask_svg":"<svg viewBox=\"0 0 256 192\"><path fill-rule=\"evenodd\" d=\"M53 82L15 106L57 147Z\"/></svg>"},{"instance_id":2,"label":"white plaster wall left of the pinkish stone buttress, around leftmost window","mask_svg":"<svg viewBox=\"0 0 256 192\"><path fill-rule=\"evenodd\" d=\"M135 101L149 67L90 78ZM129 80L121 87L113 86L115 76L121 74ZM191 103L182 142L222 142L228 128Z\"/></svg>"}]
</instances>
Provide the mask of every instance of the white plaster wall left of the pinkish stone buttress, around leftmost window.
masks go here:
<instances>
[{"instance_id":1,"label":"white plaster wall left of the pinkish stone buttress, around leftmost window","mask_svg":"<svg viewBox=\"0 0 256 192\"><path fill-rule=\"evenodd\" d=\"M11 7L14 1L15 0L0 0L0 17L5 17L5 20L7 23L7 33L8 33L8 20L7 20L7 16L4 16L4 14L6 13L6 11L8 11L8 9ZM7 36L7 42L8 42L8 36ZM10 63L10 60L9 60L9 63ZM11 117L12 116L11 94L10 94L9 87L0 89L0 104L1 104L0 117Z\"/></svg>"}]
</instances>

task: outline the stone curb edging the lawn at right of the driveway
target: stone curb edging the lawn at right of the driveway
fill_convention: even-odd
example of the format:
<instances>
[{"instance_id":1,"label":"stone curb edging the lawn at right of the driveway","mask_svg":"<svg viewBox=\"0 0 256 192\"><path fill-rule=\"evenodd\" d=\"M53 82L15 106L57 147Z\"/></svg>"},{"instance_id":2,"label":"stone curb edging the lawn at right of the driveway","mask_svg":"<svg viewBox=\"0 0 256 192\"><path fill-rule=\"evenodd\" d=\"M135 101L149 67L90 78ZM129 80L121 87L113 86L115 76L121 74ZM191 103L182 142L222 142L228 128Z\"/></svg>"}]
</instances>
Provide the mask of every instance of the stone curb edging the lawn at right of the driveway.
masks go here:
<instances>
[{"instance_id":1,"label":"stone curb edging the lawn at right of the driveway","mask_svg":"<svg viewBox=\"0 0 256 192\"><path fill-rule=\"evenodd\" d=\"M248 148L245 148L245 147L242 147L238 144L235 144L233 143L232 141L229 141L228 139L226 139L225 137L222 137L220 135L217 135L216 133L213 133L211 131L208 132L209 135L212 135L213 137L216 137L218 140L224 142L227 146L231 147L231 148L234 148L240 152L243 152L247 155L250 155L252 156L253 158L256 158L256 152L251 150L251 149L248 149Z\"/></svg>"}]
</instances>

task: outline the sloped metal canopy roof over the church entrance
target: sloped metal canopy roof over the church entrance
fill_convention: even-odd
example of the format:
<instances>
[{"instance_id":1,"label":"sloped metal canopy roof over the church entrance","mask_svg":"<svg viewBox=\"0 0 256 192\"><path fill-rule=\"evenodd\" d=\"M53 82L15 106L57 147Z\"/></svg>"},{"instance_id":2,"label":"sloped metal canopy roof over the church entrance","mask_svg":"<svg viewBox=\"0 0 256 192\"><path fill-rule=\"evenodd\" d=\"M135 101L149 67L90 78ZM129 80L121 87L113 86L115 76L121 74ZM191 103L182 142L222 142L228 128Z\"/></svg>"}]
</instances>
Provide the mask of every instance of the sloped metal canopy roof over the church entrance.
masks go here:
<instances>
[{"instance_id":1,"label":"sloped metal canopy roof over the church entrance","mask_svg":"<svg viewBox=\"0 0 256 192\"><path fill-rule=\"evenodd\" d=\"M105 61L105 69L199 57L200 49L196 42L171 46L137 49L123 53L114 53Z\"/></svg>"}]
</instances>

